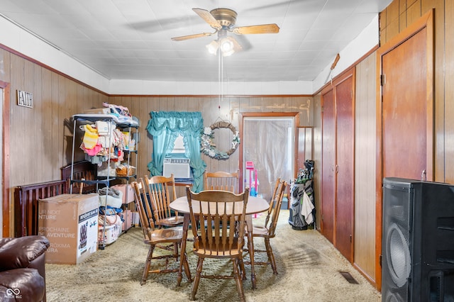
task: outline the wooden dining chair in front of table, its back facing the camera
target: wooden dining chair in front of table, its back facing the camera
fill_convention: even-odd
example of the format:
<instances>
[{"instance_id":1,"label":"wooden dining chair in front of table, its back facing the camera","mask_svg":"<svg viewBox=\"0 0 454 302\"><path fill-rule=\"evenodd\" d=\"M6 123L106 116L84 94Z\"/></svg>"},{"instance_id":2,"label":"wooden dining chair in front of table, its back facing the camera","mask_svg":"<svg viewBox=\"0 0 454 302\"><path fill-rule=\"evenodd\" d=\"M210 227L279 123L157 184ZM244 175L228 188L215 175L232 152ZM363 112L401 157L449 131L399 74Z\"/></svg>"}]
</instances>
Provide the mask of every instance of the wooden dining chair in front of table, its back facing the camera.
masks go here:
<instances>
[{"instance_id":1,"label":"wooden dining chair in front of table, its back facing the camera","mask_svg":"<svg viewBox=\"0 0 454 302\"><path fill-rule=\"evenodd\" d=\"M195 300L201 278L235 279L240 301L245 301L243 276L243 243L245 232L245 213L249 189L243 194L228 191L208 190L196 194L187 186L187 201L194 235L194 255L198 257L196 276L192 284L191 300ZM234 210L233 210L234 209ZM228 228L228 225L239 225ZM233 274L220 275L216 272L202 275L204 259L233 260Z\"/></svg>"}]
</instances>

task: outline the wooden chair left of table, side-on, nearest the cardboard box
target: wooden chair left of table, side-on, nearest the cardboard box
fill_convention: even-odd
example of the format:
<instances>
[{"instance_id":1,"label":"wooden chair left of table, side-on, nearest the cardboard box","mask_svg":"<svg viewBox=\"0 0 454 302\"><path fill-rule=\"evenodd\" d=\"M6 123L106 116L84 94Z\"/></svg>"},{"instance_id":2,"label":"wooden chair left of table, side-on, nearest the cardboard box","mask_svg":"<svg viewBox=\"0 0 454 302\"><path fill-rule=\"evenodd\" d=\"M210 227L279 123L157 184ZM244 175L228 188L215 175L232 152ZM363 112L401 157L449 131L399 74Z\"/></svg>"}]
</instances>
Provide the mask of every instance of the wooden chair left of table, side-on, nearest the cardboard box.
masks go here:
<instances>
[{"instance_id":1,"label":"wooden chair left of table, side-on, nearest the cardboard box","mask_svg":"<svg viewBox=\"0 0 454 302\"><path fill-rule=\"evenodd\" d=\"M187 262L187 257L179 257L178 254L178 247L181 245L182 242L182 235L183 230L182 228L155 228L155 223L153 222L153 216L150 215L150 205L148 204L146 193L144 190L143 179L139 181L133 181L131 186L134 189L134 200L135 200L135 207L139 213L139 220L140 225L142 226L143 230L143 237L145 244L149 245L150 248L148 250L148 256L145 261L145 269L143 270L142 280L140 281L140 285L145 284L148 279L149 273L170 273L170 272L178 272L179 267L175 269L169 269L169 259L175 258L176 261L180 259L183 261L184 273L187 276L189 281L192 281L191 272L189 271L189 264ZM171 245L173 247L172 253L166 255L160 255L153 257L153 251L155 247L160 247L160 245ZM166 249L164 249L166 250ZM185 253L185 251L181 251ZM153 269L151 270L151 262L153 259L165 259L165 269Z\"/></svg>"}]
</instances>

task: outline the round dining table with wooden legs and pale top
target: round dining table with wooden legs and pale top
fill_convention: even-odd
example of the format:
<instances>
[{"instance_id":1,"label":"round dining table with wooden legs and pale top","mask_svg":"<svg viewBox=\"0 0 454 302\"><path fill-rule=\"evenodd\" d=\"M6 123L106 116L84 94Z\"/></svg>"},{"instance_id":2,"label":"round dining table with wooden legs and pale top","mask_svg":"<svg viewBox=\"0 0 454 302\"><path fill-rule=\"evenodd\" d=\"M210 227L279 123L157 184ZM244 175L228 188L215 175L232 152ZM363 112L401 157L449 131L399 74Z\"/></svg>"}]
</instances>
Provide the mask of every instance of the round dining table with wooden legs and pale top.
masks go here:
<instances>
[{"instance_id":1,"label":"round dining table with wooden legs and pale top","mask_svg":"<svg viewBox=\"0 0 454 302\"><path fill-rule=\"evenodd\" d=\"M193 206L196 203L193 203ZM187 240L187 231L189 229L189 222L191 218L189 217L189 203L187 202L187 196L182 196L175 201L172 201L170 203L170 208L172 210L177 211L178 213L184 214L184 221L183 221L183 237L182 237L182 253L181 257L186 257L186 240ZM253 284L253 289L255 289L255 268L254 268L254 240L253 240L253 221L252 221L252 215L257 214L257 213L262 213L268 210L270 208L270 204L264 199L256 196L249 196L248 197L248 204L246 205L246 218L245 218L245 223L246 223L246 233L248 235L248 250L249 250L249 256L250 256L250 280ZM238 209L238 214L241 213L243 209ZM182 272L183 272L183 259L180 259L179 262L179 272L178 272L178 278L177 278L177 285L179 286L182 281Z\"/></svg>"}]
</instances>

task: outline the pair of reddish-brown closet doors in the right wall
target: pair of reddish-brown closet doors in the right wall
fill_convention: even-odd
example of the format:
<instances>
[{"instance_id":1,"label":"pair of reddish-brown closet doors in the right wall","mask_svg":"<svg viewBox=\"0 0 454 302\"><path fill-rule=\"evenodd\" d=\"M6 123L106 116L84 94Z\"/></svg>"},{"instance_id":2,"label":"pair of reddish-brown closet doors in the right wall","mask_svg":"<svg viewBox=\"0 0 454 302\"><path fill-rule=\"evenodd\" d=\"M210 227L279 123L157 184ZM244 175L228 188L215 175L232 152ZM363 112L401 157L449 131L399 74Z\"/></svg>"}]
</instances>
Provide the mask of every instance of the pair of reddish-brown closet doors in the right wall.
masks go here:
<instances>
[{"instance_id":1,"label":"pair of reddish-brown closet doors in the right wall","mask_svg":"<svg viewBox=\"0 0 454 302\"><path fill-rule=\"evenodd\" d=\"M350 69L321 91L321 233L353 262L354 82Z\"/></svg>"}]
</instances>

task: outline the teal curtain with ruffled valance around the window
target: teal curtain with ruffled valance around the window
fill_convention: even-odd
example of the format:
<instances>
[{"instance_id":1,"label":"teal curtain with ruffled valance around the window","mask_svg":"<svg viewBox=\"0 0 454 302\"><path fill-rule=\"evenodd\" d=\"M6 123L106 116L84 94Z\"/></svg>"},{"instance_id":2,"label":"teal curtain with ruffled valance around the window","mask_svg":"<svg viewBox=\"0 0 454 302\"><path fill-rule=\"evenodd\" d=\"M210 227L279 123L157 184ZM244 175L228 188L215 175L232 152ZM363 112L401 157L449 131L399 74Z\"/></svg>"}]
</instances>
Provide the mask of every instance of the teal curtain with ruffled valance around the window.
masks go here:
<instances>
[{"instance_id":1,"label":"teal curtain with ruffled valance around the window","mask_svg":"<svg viewBox=\"0 0 454 302\"><path fill-rule=\"evenodd\" d=\"M153 135L153 154L148 170L152 176L162 175L165 155L173 150L178 135L182 135L185 156L190 160L194 184L192 190L203 190L206 163L201 159L200 133L204 129L201 112L160 111L150 112L147 130Z\"/></svg>"}]
</instances>

